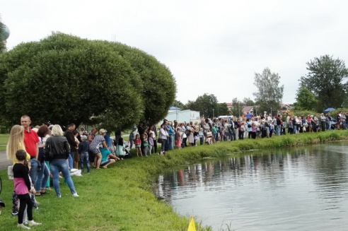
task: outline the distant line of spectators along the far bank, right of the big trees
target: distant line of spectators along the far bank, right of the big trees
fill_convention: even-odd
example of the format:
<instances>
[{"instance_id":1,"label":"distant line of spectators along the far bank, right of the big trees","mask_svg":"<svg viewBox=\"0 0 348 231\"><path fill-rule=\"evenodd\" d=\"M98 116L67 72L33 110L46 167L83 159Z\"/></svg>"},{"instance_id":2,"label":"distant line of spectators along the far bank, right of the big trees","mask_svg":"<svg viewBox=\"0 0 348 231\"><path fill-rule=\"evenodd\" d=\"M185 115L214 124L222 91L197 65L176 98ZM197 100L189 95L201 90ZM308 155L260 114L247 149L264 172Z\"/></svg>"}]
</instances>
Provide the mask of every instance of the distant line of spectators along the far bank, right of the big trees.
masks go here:
<instances>
[{"instance_id":1,"label":"distant line of spectators along the far bank, right of the big trees","mask_svg":"<svg viewBox=\"0 0 348 231\"><path fill-rule=\"evenodd\" d=\"M335 119L335 122L332 122ZM287 134L299 134L304 132L318 132L331 129L347 129L346 113L339 112L332 118L327 114L308 114L305 116L291 116L260 114L253 117L225 117L202 118L200 122L170 122L163 120L159 131L155 126L144 128L139 124L129 134L129 142L135 143L137 155L146 156L149 151L157 153L157 144L161 144L163 155L168 150L185 148L187 146L211 145L222 141L237 141L244 138L271 138ZM158 132L158 136L157 136ZM158 139L156 138L158 137ZM146 148L148 147L149 148ZM151 151L152 150L152 151Z\"/></svg>"}]
</instances>

